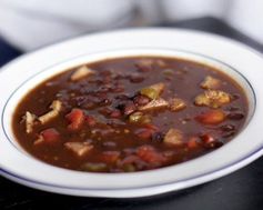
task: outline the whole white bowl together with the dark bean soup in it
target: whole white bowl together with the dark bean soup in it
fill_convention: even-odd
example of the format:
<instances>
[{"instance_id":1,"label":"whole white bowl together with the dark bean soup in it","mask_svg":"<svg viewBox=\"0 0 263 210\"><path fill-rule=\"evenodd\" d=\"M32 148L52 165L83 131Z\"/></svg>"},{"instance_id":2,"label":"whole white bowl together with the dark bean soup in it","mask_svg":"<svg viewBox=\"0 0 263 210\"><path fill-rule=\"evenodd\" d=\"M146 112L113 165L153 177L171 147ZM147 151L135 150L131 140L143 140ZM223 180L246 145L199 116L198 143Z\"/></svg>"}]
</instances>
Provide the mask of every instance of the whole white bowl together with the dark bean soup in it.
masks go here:
<instances>
[{"instance_id":1,"label":"whole white bowl together with the dark bean soup in it","mask_svg":"<svg viewBox=\"0 0 263 210\"><path fill-rule=\"evenodd\" d=\"M47 191L131 198L196 186L262 153L257 52L170 29L87 36L0 74L1 174Z\"/></svg>"}]
</instances>

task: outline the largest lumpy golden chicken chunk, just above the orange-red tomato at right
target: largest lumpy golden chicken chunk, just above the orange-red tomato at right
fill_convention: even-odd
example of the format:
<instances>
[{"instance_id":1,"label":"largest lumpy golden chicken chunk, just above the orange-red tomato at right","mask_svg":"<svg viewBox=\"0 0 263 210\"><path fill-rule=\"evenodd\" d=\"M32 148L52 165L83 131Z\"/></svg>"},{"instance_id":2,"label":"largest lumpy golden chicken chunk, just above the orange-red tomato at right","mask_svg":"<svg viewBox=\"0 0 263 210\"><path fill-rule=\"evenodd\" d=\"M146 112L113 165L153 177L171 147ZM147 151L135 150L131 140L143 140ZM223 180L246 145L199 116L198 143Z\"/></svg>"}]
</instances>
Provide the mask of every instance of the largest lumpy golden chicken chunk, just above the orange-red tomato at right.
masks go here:
<instances>
[{"instance_id":1,"label":"largest lumpy golden chicken chunk, just above the orange-red tomato at right","mask_svg":"<svg viewBox=\"0 0 263 210\"><path fill-rule=\"evenodd\" d=\"M195 97L196 106L206 106L211 108L220 108L231 102L231 94L221 90L205 90L203 93Z\"/></svg>"}]
</instances>

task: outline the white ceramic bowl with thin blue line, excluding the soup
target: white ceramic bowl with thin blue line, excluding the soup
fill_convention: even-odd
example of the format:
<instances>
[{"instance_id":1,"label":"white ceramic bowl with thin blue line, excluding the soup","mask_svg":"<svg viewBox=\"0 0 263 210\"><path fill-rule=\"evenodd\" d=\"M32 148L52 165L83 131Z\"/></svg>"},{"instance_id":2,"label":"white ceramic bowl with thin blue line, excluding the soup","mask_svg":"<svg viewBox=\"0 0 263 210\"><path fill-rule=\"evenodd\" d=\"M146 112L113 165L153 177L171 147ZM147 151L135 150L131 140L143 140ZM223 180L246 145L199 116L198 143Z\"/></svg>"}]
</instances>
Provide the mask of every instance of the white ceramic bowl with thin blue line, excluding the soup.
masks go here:
<instances>
[{"instance_id":1,"label":"white ceramic bowl with thin blue line, excluding the soup","mask_svg":"<svg viewBox=\"0 0 263 210\"><path fill-rule=\"evenodd\" d=\"M234 78L249 98L243 130L224 147L194 160L133 173L87 173L57 168L28 154L14 140L12 113L40 81L71 67L105 58L169 56L216 67ZM196 186L227 174L259 158L263 146L263 59L239 42L203 32L136 29L77 38L26 54L0 71L0 173L51 192L132 198Z\"/></svg>"}]
</instances>

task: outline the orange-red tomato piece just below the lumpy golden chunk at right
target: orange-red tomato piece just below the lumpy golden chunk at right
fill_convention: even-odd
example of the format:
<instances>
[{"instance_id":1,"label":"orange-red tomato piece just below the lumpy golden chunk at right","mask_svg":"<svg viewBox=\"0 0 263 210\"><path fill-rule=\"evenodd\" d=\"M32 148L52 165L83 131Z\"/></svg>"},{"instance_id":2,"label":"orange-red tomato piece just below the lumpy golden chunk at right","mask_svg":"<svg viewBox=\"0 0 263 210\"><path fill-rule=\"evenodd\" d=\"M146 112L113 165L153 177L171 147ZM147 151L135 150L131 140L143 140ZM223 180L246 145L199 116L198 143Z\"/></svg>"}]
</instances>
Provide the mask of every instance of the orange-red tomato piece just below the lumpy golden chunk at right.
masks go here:
<instances>
[{"instance_id":1,"label":"orange-red tomato piece just below the lumpy golden chunk at right","mask_svg":"<svg viewBox=\"0 0 263 210\"><path fill-rule=\"evenodd\" d=\"M225 113L222 110L210 110L195 117L195 120L204 124L218 124L225 120Z\"/></svg>"}]
</instances>

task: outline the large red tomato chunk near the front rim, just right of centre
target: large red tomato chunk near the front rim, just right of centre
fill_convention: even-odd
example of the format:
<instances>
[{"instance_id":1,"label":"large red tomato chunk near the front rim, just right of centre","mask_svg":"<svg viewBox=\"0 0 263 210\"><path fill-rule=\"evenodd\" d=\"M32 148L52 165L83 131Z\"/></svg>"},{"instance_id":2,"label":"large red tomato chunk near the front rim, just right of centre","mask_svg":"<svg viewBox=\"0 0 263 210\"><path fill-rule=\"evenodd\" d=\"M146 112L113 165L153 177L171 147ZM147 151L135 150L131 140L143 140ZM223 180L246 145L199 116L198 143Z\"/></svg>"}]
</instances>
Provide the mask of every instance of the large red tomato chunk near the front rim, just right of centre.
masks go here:
<instances>
[{"instance_id":1,"label":"large red tomato chunk near the front rim, just right of centre","mask_svg":"<svg viewBox=\"0 0 263 210\"><path fill-rule=\"evenodd\" d=\"M158 152L152 146L141 146L138 148L138 156L148 163L155 166L161 164L165 161L162 153Z\"/></svg>"}]
</instances>

